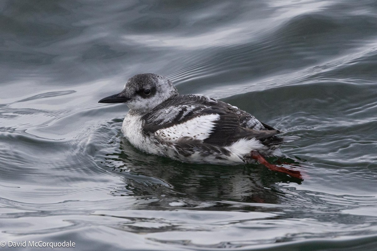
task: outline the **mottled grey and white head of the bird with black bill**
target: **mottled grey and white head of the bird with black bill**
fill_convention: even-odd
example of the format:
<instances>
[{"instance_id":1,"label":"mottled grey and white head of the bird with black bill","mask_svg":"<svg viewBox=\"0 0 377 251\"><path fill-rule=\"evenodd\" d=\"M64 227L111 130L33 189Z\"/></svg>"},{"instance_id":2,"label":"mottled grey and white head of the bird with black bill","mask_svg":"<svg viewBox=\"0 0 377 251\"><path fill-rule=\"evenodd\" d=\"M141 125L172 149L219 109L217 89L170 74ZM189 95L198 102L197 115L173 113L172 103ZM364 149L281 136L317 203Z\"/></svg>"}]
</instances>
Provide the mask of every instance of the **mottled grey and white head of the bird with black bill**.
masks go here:
<instances>
[{"instance_id":1,"label":"mottled grey and white head of the bird with black bill","mask_svg":"<svg viewBox=\"0 0 377 251\"><path fill-rule=\"evenodd\" d=\"M121 93L105 97L98 103L126 103L133 112L143 114L177 94L169 79L142 73L130 78Z\"/></svg>"}]
</instances>

